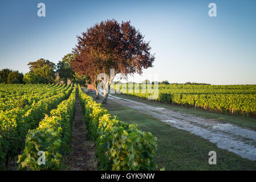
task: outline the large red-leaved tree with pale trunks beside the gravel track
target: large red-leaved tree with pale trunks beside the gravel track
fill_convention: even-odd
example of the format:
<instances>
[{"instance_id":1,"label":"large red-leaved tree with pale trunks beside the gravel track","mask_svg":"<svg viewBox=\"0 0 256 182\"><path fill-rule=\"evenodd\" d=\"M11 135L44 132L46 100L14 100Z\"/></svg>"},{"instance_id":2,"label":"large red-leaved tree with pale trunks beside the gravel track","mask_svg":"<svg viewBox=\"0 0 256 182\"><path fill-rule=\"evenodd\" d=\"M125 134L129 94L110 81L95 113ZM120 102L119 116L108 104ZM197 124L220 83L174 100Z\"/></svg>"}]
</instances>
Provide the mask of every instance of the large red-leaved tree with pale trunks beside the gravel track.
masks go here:
<instances>
[{"instance_id":1,"label":"large red-leaved tree with pale trunks beside the gravel track","mask_svg":"<svg viewBox=\"0 0 256 182\"><path fill-rule=\"evenodd\" d=\"M149 42L144 41L144 36L129 21L118 23L112 19L97 23L77 38L71 67L75 72L90 76L95 87L98 81L103 81L103 104L107 102L114 78L111 69L114 75L122 73L127 77L153 67L155 56L150 52ZM106 76L99 76L100 73Z\"/></svg>"}]
</instances>

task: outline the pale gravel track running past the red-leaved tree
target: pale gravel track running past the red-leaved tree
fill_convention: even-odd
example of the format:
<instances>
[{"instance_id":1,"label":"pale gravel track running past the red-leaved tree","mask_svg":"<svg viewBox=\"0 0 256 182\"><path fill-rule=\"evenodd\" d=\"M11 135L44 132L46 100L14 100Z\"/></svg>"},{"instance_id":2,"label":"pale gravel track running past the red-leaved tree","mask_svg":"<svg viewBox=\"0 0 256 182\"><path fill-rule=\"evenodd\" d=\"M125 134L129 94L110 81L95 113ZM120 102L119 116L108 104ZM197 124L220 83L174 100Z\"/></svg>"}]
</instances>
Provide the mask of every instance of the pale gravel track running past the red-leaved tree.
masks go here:
<instances>
[{"instance_id":1,"label":"pale gravel track running past the red-leaved tree","mask_svg":"<svg viewBox=\"0 0 256 182\"><path fill-rule=\"evenodd\" d=\"M152 115L162 122L177 129L189 131L192 134L208 139L223 148L242 156L256 160L256 132L243 127L231 125L213 119L204 119L190 114L178 113L163 107L150 106L141 102L127 100L108 95L108 98L118 104Z\"/></svg>"}]
</instances>

